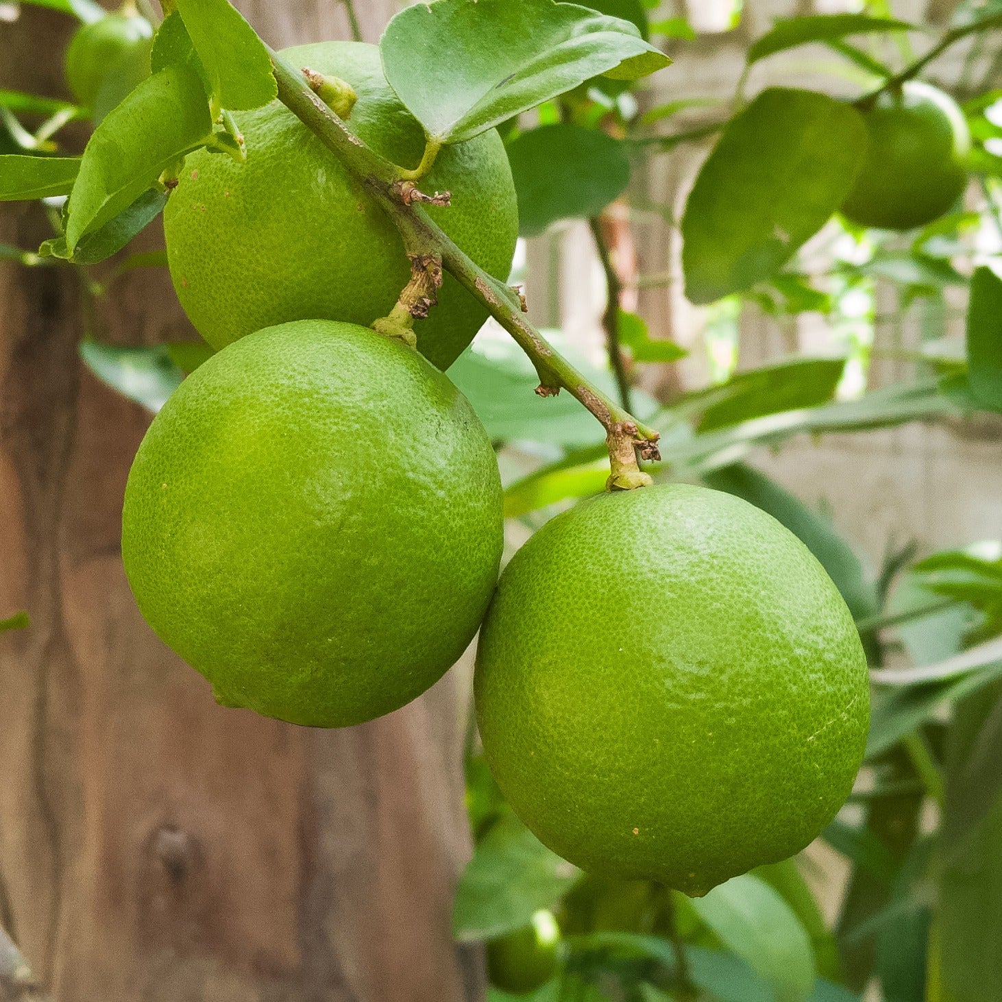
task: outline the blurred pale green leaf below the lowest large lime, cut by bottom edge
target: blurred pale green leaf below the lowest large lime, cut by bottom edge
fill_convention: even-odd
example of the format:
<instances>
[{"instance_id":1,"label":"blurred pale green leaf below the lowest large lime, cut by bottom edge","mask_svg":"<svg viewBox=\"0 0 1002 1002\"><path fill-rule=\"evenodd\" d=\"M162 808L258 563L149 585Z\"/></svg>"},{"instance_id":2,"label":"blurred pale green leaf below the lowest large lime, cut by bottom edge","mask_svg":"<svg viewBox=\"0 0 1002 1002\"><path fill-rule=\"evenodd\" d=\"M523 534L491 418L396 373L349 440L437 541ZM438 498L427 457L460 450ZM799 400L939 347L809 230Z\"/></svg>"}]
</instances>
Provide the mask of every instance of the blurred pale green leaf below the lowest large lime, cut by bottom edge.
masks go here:
<instances>
[{"instance_id":1,"label":"blurred pale green leaf below the lowest large lime, cut by bottom edge","mask_svg":"<svg viewBox=\"0 0 1002 1002\"><path fill-rule=\"evenodd\" d=\"M750 874L714 887L692 907L727 949L777 992L778 1002L804 1002L815 982L807 930L783 898Z\"/></svg>"}]
</instances>

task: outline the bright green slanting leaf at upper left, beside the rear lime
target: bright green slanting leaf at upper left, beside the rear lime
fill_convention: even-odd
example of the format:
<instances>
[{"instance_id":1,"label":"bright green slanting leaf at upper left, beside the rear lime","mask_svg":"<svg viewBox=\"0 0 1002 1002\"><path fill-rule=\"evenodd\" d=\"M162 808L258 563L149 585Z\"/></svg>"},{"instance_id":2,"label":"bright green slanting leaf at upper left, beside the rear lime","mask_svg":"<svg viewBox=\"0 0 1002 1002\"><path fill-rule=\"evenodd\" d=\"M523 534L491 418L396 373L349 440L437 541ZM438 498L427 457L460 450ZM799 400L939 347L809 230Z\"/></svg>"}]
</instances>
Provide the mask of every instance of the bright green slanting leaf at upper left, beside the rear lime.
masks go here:
<instances>
[{"instance_id":1,"label":"bright green slanting leaf at upper left, beside the rear lime","mask_svg":"<svg viewBox=\"0 0 1002 1002\"><path fill-rule=\"evenodd\" d=\"M193 70L168 66L143 80L97 126L83 151L69 200L70 250L211 134L205 91Z\"/></svg>"}]
</instances>

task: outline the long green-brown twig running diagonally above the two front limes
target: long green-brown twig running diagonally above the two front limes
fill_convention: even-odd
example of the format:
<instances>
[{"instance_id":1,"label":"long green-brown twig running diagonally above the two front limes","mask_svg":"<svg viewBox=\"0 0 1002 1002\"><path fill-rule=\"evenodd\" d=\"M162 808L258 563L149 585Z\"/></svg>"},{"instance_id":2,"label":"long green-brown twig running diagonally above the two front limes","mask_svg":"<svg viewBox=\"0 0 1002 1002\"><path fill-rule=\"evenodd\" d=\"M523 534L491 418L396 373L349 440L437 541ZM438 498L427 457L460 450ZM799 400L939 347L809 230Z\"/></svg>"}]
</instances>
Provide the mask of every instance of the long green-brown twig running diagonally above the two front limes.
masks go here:
<instances>
[{"instance_id":1,"label":"long green-brown twig running diagonally above the two front limes","mask_svg":"<svg viewBox=\"0 0 1002 1002\"><path fill-rule=\"evenodd\" d=\"M271 50L270 50L271 51ZM397 226L408 255L437 259L515 339L535 366L541 396L566 389L601 422L618 444L628 439L644 459L656 459L658 433L638 422L557 353L522 316L517 292L488 275L464 254L412 197L405 202L400 169L353 135L310 89L302 72L271 52L279 100L355 174ZM621 452L617 449L617 454ZM636 464L633 464L636 468Z\"/></svg>"}]
</instances>

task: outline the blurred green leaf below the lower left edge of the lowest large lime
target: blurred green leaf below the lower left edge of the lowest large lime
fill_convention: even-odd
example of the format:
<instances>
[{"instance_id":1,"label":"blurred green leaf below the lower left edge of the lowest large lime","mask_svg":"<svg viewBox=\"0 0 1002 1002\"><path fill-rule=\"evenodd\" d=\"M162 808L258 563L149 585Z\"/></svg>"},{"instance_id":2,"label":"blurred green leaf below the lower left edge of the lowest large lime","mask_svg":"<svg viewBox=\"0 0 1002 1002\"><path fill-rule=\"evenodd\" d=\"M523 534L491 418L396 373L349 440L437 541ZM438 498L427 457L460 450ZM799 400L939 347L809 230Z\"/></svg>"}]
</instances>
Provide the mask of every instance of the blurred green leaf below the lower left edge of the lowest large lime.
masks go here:
<instances>
[{"instance_id":1,"label":"blurred green leaf below the lower left edge of the lowest large lime","mask_svg":"<svg viewBox=\"0 0 1002 1002\"><path fill-rule=\"evenodd\" d=\"M506 815L477 846L460 878L453 935L470 942L520 929L569 891L580 875L514 815Z\"/></svg>"}]
</instances>

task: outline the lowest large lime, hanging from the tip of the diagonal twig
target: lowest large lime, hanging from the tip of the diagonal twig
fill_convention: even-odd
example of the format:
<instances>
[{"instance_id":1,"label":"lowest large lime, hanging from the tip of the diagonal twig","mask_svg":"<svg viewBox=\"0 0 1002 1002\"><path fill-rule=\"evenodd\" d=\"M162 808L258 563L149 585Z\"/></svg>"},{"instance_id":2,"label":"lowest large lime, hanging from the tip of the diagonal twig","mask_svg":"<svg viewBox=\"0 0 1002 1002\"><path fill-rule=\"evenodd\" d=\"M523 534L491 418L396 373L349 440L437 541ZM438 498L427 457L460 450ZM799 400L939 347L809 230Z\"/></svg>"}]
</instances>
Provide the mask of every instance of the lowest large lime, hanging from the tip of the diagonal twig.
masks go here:
<instances>
[{"instance_id":1,"label":"lowest large lime, hanging from the tip of the diagonal twig","mask_svg":"<svg viewBox=\"0 0 1002 1002\"><path fill-rule=\"evenodd\" d=\"M804 544L729 494L606 494L501 576L475 674L484 752L550 849L690 895L803 849L852 790L867 664Z\"/></svg>"}]
</instances>

